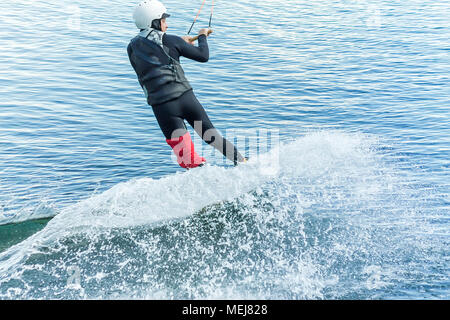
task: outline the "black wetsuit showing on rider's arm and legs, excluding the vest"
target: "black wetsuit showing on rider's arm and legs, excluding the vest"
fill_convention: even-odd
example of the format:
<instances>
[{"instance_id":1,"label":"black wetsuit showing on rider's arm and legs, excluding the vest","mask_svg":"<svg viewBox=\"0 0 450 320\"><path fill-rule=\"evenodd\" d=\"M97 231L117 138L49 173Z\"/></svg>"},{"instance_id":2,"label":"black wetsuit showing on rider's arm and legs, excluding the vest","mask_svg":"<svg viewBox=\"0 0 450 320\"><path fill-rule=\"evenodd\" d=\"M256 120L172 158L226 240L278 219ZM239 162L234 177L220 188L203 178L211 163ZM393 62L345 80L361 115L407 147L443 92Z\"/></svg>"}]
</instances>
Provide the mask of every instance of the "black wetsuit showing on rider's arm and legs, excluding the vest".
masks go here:
<instances>
[{"instance_id":1,"label":"black wetsuit showing on rider's arm and legs, excluding the vest","mask_svg":"<svg viewBox=\"0 0 450 320\"><path fill-rule=\"evenodd\" d=\"M198 62L207 62L209 59L209 48L205 35L200 35L198 46L194 46L178 36L164 34L163 45L169 49L168 54L178 62L180 56ZM243 161L244 158L236 147L214 128L192 89L176 99L152 105L152 108L166 139L173 139L186 133L184 120L187 120L206 143L219 150L229 160L235 164ZM196 125L197 121L201 121L201 126L198 123Z\"/></svg>"}]
</instances>

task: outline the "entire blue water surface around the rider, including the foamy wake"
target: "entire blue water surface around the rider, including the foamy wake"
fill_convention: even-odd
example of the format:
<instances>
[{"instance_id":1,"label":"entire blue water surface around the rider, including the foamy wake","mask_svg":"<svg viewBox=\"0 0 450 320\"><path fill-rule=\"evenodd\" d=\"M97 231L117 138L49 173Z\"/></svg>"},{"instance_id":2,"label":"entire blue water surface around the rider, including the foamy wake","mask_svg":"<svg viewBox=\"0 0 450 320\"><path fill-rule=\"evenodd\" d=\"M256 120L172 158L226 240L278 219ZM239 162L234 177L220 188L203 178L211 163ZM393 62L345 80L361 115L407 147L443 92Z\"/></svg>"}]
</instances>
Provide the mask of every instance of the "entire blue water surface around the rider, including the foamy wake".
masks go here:
<instances>
[{"instance_id":1,"label":"entire blue water surface around the rider, including the foamy wake","mask_svg":"<svg viewBox=\"0 0 450 320\"><path fill-rule=\"evenodd\" d=\"M201 1L165 4L184 35ZM189 172L133 7L0 4L1 298L450 298L448 2L216 1L187 77L224 134L280 144L233 168L196 138Z\"/></svg>"}]
</instances>

